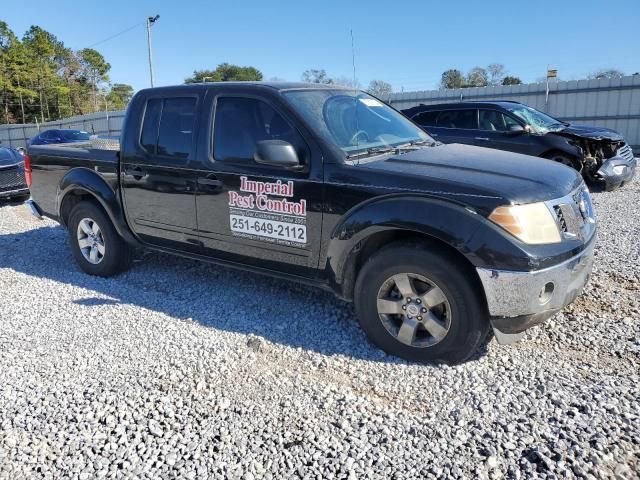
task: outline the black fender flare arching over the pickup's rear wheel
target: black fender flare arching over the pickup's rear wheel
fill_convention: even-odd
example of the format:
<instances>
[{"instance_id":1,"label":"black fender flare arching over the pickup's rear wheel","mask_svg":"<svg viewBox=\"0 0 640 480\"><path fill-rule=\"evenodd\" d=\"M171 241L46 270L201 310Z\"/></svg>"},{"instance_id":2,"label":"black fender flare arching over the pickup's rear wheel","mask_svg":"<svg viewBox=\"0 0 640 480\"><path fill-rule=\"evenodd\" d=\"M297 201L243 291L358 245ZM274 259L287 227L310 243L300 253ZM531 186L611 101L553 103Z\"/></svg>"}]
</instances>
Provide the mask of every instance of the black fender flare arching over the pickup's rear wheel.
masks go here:
<instances>
[{"instance_id":1,"label":"black fender flare arching over the pickup's rear wheel","mask_svg":"<svg viewBox=\"0 0 640 480\"><path fill-rule=\"evenodd\" d=\"M56 192L56 212L61 222L62 206L71 192L82 191L93 197L104 209L118 234L130 244L139 244L124 217L124 209L118 192L96 171L86 167L69 170L58 186Z\"/></svg>"}]
</instances>

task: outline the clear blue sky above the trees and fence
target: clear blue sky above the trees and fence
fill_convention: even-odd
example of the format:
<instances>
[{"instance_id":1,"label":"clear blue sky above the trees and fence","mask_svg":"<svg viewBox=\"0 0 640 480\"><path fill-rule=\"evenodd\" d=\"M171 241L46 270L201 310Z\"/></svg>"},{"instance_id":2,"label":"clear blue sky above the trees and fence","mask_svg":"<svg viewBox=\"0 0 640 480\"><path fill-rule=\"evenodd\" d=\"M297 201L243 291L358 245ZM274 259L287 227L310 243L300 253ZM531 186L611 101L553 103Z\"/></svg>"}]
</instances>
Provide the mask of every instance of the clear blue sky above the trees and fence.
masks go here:
<instances>
[{"instance_id":1,"label":"clear blue sky above the trees and fence","mask_svg":"<svg viewBox=\"0 0 640 480\"><path fill-rule=\"evenodd\" d=\"M434 89L449 68L490 63L525 83L547 66L562 80L640 71L640 0L1 0L0 8L19 37L38 25L67 47L95 48L112 83L136 90L149 86L145 19L156 14L156 86L222 62L254 66L266 80L299 81L310 68L351 78L350 31L360 84L384 80L394 91Z\"/></svg>"}]
</instances>

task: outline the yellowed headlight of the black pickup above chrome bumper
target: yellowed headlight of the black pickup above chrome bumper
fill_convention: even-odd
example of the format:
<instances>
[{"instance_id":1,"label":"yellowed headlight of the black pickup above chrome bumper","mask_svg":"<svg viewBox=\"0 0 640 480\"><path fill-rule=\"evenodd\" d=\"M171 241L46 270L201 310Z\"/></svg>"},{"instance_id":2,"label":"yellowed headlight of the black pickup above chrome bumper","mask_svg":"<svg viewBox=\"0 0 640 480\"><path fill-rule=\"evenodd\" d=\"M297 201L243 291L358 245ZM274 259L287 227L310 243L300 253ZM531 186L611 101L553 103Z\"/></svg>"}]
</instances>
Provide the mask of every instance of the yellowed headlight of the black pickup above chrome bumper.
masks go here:
<instances>
[{"instance_id":1,"label":"yellowed headlight of the black pickup above chrome bumper","mask_svg":"<svg viewBox=\"0 0 640 480\"><path fill-rule=\"evenodd\" d=\"M491 212L489 220L531 245L562 240L555 218L542 202L498 207Z\"/></svg>"}]
</instances>

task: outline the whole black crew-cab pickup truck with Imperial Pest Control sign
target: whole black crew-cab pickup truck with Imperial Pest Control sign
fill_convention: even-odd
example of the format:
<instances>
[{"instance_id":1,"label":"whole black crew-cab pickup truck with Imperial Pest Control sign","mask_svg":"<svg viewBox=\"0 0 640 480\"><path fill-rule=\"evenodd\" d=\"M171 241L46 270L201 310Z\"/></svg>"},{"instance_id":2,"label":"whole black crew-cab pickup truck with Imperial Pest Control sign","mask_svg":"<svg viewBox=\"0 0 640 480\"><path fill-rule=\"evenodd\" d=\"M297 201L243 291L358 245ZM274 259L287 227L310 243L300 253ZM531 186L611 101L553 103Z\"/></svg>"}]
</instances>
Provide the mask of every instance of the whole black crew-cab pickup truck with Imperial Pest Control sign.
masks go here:
<instances>
[{"instance_id":1,"label":"whole black crew-cab pickup truck with Imperial Pest Control sign","mask_svg":"<svg viewBox=\"0 0 640 480\"><path fill-rule=\"evenodd\" d=\"M29 206L66 226L85 272L116 274L145 247L317 285L415 361L464 361L492 330L517 340L592 266L577 172L441 144L344 88L143 90L115 149L32 146L25 164Z\"/></svg>"}]
</instances>

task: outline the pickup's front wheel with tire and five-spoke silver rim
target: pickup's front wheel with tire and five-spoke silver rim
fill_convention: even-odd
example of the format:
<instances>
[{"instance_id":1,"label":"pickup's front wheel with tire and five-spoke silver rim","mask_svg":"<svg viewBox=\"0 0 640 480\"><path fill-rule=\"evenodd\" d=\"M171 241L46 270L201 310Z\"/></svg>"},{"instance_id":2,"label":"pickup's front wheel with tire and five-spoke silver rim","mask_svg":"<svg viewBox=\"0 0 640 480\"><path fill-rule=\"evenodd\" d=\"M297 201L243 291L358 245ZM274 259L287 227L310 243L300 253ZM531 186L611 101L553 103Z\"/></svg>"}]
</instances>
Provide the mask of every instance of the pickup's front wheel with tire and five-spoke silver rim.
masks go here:
<instances>
[{"instance_id":1,"label":"pickup's front wheel with tire and five-spoke silver rim","mask_svg":"<svg viewBox=\"0 0 640 480\"><path fill-rule=\"evenodd\" d=\"M417 298L408 299L408 291ZM354 303L371 342L415 362L464 362L490 329L484 300L468 270L437 245L384 247L360 270Z\"/></svg>"}]
</instances>

